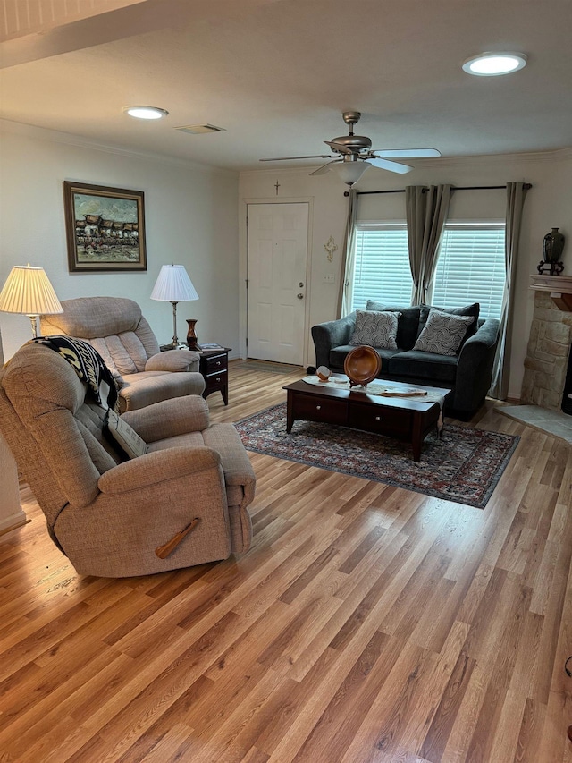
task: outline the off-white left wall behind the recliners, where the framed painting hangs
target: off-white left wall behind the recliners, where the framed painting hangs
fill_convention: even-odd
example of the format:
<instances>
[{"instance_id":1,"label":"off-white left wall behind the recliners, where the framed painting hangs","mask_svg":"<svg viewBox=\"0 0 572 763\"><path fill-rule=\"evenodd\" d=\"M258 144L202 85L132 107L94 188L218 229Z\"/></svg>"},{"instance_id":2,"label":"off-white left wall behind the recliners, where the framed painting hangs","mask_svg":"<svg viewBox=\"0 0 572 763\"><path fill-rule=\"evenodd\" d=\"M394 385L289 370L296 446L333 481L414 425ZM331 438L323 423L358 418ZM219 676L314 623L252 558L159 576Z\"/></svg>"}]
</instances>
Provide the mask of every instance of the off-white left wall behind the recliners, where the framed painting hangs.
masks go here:
<instances>
[{"instance_id":1,"label":"off-white left wall behind the recliners, where the framed painting hangs","mask_svg":"<svg viewBox=\"0 0 572 763\"><path fill-rule=\"evenodd\" d=\"M0 286L13 265L44 267L60 300L125 296L139 302L160 343L172 338L172 305L149 299L162 265L187 268L199 300L180 302L198 318L198 341L239 348L238 174L88 144L71 135L0 122ZM145 192L147 272L69 273L63 181ZM4 355L29 340L29 319L0 313Z\"/></svg>"}]
</instances>

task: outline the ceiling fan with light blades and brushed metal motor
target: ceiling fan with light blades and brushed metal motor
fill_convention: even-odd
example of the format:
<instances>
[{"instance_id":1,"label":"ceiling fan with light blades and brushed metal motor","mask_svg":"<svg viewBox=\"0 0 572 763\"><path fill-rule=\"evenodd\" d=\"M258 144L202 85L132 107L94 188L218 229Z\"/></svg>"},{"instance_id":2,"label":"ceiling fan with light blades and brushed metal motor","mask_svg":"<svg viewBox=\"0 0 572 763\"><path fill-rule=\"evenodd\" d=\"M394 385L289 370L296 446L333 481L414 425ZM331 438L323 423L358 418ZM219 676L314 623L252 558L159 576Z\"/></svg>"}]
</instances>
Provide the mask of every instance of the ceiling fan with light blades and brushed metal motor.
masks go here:
<instances>
[{"instance_id":1,"label":"ceiling fan with light blades and brushed metal motor","mask_svg":"<svg viewBox=\"0 0 572 763\"><path fill-rule=\"evenodd\" d=\"M354 124L359 122L361 113L358 111L344 111L343 121L349 125L348 135L341 135L333 140L324 140L326 146L332 150L332 154L318 154L312 157L276 157L260 159L261 162L282 162L290 159L332 159L325 165L318 167L311 175L325 174L340 165L340 174L344 182L349 186L357 182L366 172L369 166L380 167L392 173L408 173L413 167L393 162L391 159L400 158L425 158L441 157L441 152L436 148L388 148L380 150L372 148L372 141L365 135L354 135Z\"/></svg>"}]
</instances>

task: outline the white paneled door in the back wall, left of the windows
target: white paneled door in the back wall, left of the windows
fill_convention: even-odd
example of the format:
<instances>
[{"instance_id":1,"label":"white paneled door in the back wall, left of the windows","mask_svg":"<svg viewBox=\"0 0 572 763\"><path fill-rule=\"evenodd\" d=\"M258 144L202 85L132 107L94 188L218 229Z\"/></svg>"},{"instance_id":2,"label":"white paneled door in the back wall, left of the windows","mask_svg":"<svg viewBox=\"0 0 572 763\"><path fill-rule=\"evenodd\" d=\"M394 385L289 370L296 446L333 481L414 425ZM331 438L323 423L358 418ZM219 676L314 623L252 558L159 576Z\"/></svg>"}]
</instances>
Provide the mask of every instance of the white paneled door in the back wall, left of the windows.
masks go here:
<instances>
[{"instance_id":1,"label":"white paneled door in the back wall, left of the windows","mask_svg":"<svg viewBox=\"0 0 572 763\"><path fill-rule=\"evenodd\" d=\"M248 204L248 358L301 366L308 205Z\"/></svg>"}]
</instances>

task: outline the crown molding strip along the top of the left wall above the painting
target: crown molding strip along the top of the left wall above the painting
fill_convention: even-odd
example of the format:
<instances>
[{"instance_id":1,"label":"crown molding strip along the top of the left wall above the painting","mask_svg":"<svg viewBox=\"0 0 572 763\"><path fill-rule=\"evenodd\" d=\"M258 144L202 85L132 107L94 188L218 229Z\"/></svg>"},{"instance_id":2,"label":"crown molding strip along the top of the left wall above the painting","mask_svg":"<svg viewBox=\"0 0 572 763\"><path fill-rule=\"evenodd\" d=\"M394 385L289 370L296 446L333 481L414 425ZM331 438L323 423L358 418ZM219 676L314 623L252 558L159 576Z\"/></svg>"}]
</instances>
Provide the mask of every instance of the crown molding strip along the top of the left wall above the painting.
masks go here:
<instances>
[{"instance_id":1,"label":"crown molding strip along the top of the left wall above the painting","mask_svg":"<svg viewBox=\"0 0 572 763\"><path fill-rule=\"evenodd\" d=\"M239 174L238 170L224 169L223 167L215 167L213 165L203 165L199 162L193 162L190 159L171 157L166 154L156 154L147 151L139 151L134 148L125 148L112 143L89 140L80 135L74 135L71 132L48 130L46 127L37 127L36 125L22 122L12 122L7 119L0 119L0 131L10 132L14 135L21 135L24 138L47 140L52 143L63 143L64 145L74 146L76 148L88 148L92 151L101 151L105 154L113 154L115 156L129 157L139 160L145 159L146 161L160 162L163 165L173 165L179 168L183 166L194 172L202 172L205 174L220 174L226 177L237 177Z\"/></svg>"}]
</instances>

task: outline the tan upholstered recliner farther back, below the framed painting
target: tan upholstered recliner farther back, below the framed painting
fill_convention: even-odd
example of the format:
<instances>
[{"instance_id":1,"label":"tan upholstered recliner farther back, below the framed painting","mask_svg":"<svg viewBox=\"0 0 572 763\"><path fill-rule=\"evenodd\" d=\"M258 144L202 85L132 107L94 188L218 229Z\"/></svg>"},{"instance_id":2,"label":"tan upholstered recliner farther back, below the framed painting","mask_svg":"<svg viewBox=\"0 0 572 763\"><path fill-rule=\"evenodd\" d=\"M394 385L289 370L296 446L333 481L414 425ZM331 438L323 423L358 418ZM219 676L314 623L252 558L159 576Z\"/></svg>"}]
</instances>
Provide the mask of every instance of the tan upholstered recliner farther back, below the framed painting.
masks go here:
<instances>
[{"instance_id":1,"label":"tan upholstered recliner farther back, below the framed painting","mask_svg":"<svg viewBox=\"0 0 572 763\"><path fill-rule=\"evenodd\" d=\"M134 411L185 394L201 394L198 352L159 343L137 302L122 297L80 297L62 302L63 313L40 317L43 336L85 339L99 352L120 386L121 411Z\"/></svg>"}]
</instances>

